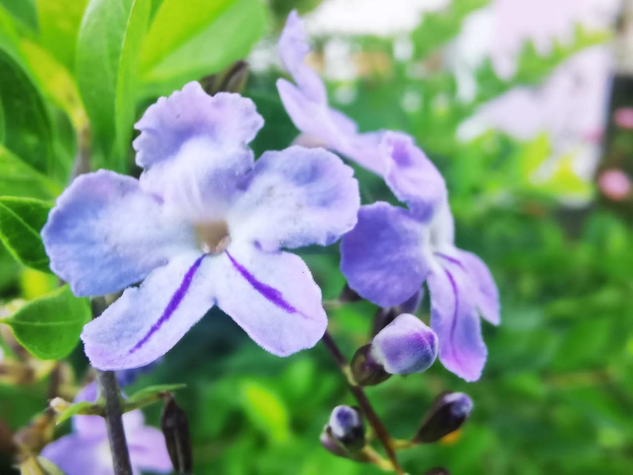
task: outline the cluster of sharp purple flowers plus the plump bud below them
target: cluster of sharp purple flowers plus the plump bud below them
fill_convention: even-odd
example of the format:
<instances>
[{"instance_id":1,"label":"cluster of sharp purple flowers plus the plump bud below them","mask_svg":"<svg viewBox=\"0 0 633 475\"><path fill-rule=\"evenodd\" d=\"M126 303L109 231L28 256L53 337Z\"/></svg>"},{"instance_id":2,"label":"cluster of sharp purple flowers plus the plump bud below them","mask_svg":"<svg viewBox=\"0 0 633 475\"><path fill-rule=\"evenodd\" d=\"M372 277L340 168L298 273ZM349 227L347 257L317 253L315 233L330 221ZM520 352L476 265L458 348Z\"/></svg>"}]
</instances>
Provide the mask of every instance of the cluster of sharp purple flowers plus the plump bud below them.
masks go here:
<instances>
[{"instance_id":1,"label":"cluster of sharp purple flowers plus the plump bud below them","mask_svg":"<svg viewBox=\"0 0 633 475\"><path fill-rule=\"evenodd\" d=\"M280 79L277 87L298 129L380 175L406 208L360 206L353 170L325 148L291 146L255 161L248 144L263 118L253 102L187 84L136 124L141 177L78 177L42 230L51 269L75 295L125 289L84 327L91 364L147 365L214 305L268 352L310 348L327 326L321 291L284 249L342 238L342 273L363 298L394 307L418 302L424 282L430 291L431 329L400 315L373 339L375 364L388 374L420 372L439 349L450 371L479 378L480 317L499 323L498 292L486 265L454 245L442 175L410 136L360 133L330 108L304 63L310 46L296 12L279 51L294 84Z\"/></svg>"}]
</instances>

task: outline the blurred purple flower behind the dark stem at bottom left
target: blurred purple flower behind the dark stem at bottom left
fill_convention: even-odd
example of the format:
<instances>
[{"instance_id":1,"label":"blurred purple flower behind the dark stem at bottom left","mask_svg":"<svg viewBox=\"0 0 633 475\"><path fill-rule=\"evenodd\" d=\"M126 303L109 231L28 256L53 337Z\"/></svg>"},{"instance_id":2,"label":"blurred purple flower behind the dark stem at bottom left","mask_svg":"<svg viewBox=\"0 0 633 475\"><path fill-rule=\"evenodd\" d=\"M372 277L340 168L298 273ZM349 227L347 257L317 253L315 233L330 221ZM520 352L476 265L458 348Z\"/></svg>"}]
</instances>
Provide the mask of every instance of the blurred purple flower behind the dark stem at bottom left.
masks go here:
<instances>
[{"instance_id":1,"label":"blurred purple flower behind the dark stem at bottom left","mask_svg":"<svg viewBox=\"0 0 633 475\"><path fill-rule=\"evenodd\" d=\"M75 398L75 402L96 400L97 388L94 383L86 386ZM103 417L75 415L72 422L73 432L44 447L42 457L54 462L66 475L113 475ZM158 429L144 425L141 410L123 414L123 429L134 474L140 475L141 470L158 473L172 471L163 434Z\"/></svg>"}]
</instances>

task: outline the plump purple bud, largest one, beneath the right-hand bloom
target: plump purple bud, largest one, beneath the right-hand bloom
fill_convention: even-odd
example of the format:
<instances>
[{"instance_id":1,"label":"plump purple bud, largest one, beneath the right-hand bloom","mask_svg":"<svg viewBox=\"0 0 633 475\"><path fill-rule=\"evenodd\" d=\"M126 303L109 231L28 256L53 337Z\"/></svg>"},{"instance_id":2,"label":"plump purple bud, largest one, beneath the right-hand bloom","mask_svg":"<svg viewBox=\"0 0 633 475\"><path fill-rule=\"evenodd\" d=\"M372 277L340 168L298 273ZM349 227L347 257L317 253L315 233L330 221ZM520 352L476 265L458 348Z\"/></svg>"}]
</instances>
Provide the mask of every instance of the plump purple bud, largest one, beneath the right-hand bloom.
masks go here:
<instances>
[{"instance_id":1,"label":"plump purple bud, largest one, beneath the right-hand bloom","mask_svg":"<svg viewBox=\"0 0 633 475\"><path fill-rule=\"evenodd\" d=\"M373 338L370 355L390 374L419 373L437 357L437 335L415 315L402 314Z\"/></svg>"}]
</instances>

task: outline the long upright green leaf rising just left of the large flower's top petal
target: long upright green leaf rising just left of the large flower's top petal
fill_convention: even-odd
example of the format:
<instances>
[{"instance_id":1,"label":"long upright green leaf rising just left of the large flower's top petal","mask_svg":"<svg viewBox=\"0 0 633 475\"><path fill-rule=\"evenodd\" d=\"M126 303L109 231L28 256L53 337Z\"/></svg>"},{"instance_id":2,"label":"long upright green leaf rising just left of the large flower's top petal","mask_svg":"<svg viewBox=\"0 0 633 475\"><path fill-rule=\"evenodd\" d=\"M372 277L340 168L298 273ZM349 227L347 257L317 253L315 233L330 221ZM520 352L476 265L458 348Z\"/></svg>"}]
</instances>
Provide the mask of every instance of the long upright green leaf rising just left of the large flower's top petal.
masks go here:
<instances>
[{"instance_id":1,"label":"long upright green leaf rising just left of the large flower's top petal","mask_svg":"<svg viewBox=\"0 0 633 475\"><path fill-rule=\"evenodd\" d=\"M107 168L125 171L149 0L91 0L77 41L77 82Z\"/></svg>"}]
</instances>

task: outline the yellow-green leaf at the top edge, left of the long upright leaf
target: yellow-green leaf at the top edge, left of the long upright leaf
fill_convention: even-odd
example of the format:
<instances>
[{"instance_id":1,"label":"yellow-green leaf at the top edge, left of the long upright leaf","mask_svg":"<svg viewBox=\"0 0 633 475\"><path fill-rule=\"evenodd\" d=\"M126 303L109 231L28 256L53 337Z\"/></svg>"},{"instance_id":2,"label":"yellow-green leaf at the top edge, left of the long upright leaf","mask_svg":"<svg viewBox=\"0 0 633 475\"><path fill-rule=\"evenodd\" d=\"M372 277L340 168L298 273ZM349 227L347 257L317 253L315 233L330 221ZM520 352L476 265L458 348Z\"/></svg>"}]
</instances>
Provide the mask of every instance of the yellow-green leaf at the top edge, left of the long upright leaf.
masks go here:
<instances>
[{"instance_id":1,"label":"yellow-green leaf at the top edge, left of the long upright leaf","mask_svg":"<svg viewBox=\"0 0 633 475\"><path fill-rule=\"evenodd\" d=\"M87 0L35 0L39 42L68 70L75 69L77 32Z\"/></svg>"}]
</instances>

